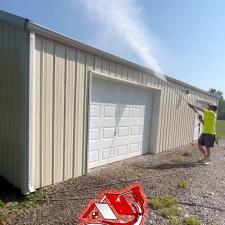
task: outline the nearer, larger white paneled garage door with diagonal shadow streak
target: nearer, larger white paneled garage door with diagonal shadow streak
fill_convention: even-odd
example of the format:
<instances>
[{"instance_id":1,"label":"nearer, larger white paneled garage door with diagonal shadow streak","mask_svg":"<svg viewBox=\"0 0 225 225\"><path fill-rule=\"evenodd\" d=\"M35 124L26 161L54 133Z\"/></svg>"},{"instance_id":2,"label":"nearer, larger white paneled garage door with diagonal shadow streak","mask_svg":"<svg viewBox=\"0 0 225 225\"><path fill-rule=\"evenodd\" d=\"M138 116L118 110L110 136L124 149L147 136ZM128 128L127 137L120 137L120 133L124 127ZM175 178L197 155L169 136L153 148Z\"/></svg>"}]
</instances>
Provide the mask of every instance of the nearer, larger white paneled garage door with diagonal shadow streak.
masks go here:
<instances>
[{"instance_id":1,"label":"nearer, larger white paneled garage door with diagonal shadow streak","mask_svg":"<svg viewBox=\"0 0 225 225\"><path fill-rule=\"evenodd\" d=\"M152 102L149 89L93 79L88 168L149 152Z\"/></svg>"}]
</instances>

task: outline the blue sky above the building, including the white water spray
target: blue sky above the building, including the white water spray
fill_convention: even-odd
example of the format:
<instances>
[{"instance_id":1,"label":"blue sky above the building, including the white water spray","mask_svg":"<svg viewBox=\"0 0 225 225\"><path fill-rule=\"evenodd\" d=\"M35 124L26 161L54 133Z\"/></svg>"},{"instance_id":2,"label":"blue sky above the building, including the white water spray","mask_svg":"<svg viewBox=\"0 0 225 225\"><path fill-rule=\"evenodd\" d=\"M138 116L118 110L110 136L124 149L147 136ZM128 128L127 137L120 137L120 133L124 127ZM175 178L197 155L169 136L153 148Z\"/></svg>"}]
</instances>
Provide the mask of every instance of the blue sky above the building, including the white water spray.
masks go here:
<instances>
[{"instance_id":1,"label":"blue sky above the building, including the white water spray","mask_svg":"<svg viewBox=\"0 0 225 225\"><path fill-rule=\"evenodd\" d=\"M223 0L0 0L0 9L225 95Z\"/></svg>"}]
</instances>

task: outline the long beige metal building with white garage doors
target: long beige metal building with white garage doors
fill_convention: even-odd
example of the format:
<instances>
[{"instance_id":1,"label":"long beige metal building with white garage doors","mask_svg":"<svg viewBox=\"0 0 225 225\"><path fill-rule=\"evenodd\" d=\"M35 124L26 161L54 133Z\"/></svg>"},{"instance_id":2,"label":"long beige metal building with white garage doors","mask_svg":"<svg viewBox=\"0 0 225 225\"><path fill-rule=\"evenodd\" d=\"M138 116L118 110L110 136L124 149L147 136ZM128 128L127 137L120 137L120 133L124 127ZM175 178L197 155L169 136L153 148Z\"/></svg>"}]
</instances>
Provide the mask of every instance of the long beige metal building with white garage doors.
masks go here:
<instances>
[{"instance_id":1,"label":"long beige metal building with white garage doors","mask_svg":"<svg viewBox=\"0 0 225 225\"><path fill-rule=\"evenodd\" d=\"M216 98L167 81L0 11L0 174L28 194L96 166L191 143L198 125L182 98L198 105Z\"/></svg>"}]
</instances>

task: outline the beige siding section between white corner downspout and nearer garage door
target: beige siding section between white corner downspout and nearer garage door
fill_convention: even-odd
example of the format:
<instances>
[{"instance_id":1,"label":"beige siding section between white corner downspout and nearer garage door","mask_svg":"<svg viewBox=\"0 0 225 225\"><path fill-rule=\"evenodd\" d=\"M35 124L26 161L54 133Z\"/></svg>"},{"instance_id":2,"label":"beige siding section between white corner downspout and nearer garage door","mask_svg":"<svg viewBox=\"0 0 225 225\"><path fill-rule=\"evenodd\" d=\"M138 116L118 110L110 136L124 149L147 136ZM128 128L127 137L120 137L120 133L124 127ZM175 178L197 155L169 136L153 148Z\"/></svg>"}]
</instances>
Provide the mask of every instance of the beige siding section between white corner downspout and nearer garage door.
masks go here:
<instances>
[{"instance_id":1,"label":"beige siding section between white corner downspout and nearer garage door","mask_svg":"<svg viewBox=\"0 0 225 225\"><path fill-rule=\"evenodd\" d=\"M86 54L36 35L35 188L82 175Z\"/></svg>"}]
</instances>

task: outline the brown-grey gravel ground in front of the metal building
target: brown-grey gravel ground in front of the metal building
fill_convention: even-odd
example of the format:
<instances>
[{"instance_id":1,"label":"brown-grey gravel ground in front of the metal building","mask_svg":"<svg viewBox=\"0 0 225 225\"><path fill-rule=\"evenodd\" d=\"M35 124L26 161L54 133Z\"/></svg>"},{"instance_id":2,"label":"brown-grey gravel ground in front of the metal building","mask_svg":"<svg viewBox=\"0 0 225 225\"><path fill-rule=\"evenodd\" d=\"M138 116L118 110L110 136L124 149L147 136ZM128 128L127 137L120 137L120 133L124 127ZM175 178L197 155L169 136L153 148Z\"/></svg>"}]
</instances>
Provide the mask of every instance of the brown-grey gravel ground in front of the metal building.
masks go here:
<instances>
[{"instance_id":1,"label":"brown-grey gravel ground in front of the metal building","mask_svg":"<svg viewBox=\"0 0 225 225\"><path fill-rule=\"evenodd\" d=\"M157 155L144 155L90 171L87 176L45 188L48 202L20 211L8 224L78 224L86 204L105 189L120 189L142 183L149 199L174 195L188 214L198 215L205 225L225 224L225 141L213 150L210 165L196 163L196 145L188 145ZM188 180L190 188L178 182ZM167 225L169 220L149 210L147 224Z\"/></svg>"}]
</instances>

